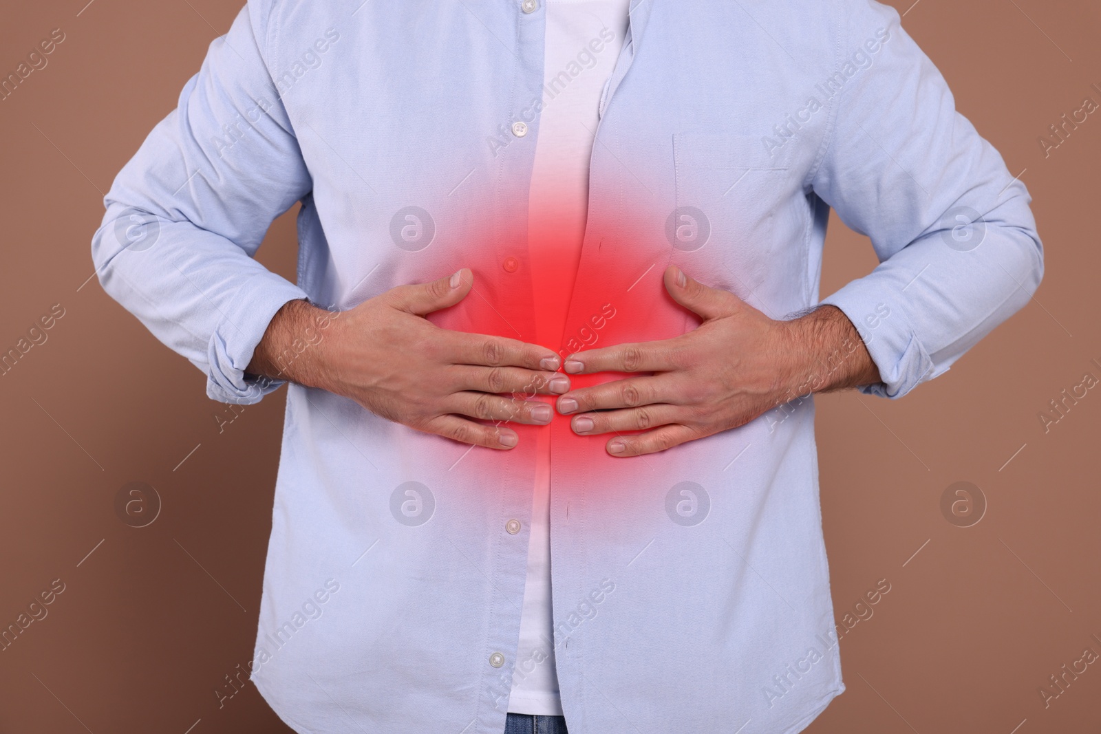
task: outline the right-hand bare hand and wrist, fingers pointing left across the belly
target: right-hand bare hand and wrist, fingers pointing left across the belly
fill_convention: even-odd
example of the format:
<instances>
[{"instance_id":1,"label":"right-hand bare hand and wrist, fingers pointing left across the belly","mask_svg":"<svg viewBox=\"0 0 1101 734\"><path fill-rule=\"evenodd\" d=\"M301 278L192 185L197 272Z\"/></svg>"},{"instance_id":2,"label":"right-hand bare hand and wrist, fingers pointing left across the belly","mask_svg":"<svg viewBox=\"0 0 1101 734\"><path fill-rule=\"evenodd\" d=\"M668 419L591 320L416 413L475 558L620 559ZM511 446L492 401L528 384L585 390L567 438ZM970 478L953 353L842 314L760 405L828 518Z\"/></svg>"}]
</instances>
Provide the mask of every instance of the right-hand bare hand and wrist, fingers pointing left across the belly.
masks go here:
<instances>
[{"instance_id":1,"label":"right-hand bare hand and wrist, fingers pointing left across the belly","mask_svg":"<svg viewBox=\"0 0 1101 734\"><path fill-rule=\"evenodd\" d=\"M726 291L709 288L675 265L665 288L702 317L688 333L665 341L618 344L570 354L565 370L653 372L558 398L581 436L624 430L609 453L663 451L753 420L811 392L880 382L880 373L852 322L833 306L776 321ZM591 413L591 410L602 410Z\"/></svg>"}]
</instances>

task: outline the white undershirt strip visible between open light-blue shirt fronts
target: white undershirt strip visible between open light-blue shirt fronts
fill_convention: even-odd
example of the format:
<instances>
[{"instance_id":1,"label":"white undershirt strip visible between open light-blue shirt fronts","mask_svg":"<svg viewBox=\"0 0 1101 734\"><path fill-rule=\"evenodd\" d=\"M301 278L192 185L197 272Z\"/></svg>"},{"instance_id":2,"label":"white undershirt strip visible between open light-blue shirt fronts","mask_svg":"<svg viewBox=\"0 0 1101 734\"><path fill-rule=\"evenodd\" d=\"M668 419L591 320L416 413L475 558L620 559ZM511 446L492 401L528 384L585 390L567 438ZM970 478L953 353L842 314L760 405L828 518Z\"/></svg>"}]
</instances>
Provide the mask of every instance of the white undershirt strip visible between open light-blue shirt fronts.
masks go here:
<instances>
[{"instance_id":1,"label":"white undershirt strip visible between open light-blue shirt fronts","mask_svg":"<svg viewBox=\"0 0 1101 734\"><path fill-rule=\"evenodd\" d=\"M527 239L533 273L562 274L533 278L537 309L557 316L539 320L545 332L536 333L537 343L557 351L585 237L597 110L623 46L630 0L543 2L545 84ZM547 430L538 436L527 580L509 711L547 716L563 711L550 604L550 443Z\"/></svg>"}]
</instances>

